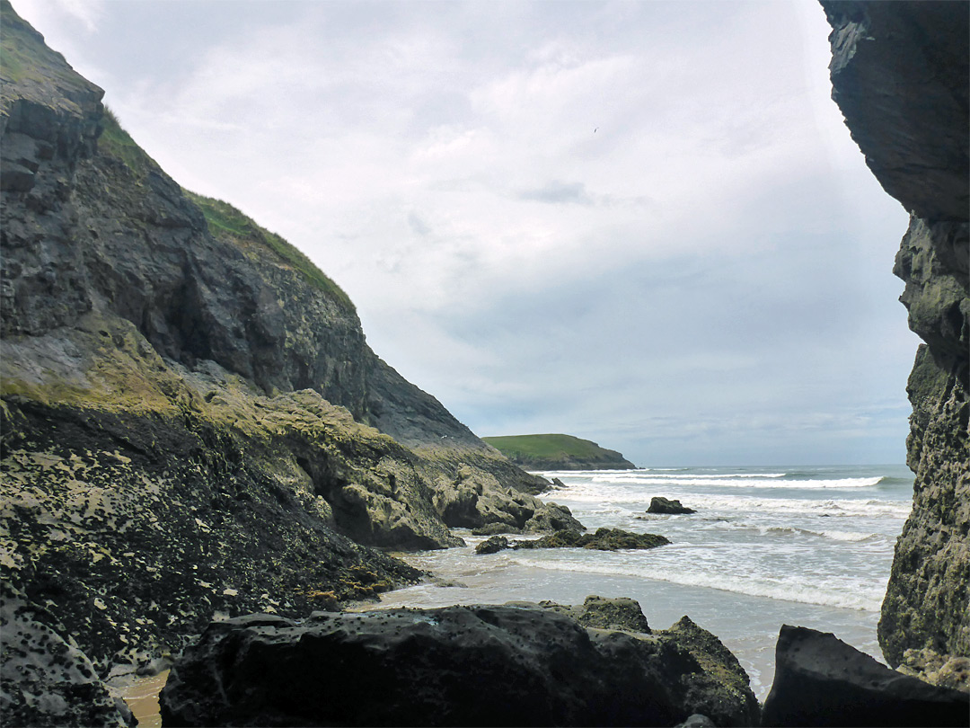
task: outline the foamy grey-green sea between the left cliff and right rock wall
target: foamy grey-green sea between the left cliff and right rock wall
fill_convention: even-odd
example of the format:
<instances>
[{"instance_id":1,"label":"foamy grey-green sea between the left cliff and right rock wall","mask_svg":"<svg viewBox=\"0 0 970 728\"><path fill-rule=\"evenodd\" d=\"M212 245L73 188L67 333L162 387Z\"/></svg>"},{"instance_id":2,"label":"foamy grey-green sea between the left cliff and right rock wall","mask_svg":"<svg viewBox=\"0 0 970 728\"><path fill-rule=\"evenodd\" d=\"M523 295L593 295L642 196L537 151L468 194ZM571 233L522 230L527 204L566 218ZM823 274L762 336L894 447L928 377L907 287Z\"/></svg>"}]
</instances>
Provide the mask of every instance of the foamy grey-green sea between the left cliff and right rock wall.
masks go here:
<instances>
[{"instance_id":1,"label":"foamy grey-green sea between the left cliff and right rock wall","mask_svg":"<svg viewBox=\"0 0 970 728\"><path fill-rule=\"evenodd\" d=\"M544 472L563 484L540 496L587 528L661 534L650 550L584 548L475 554L467 546L398 554L433 574L381 595L381 607L440 607L591 594L639 602L651 628L687 614L737 656L761 701L783 624L834 633L882 661L876 638L892 551L910 512L904 465L639 468ZM650 500L696 513L646 513ZM373 606L370 606L372 609Z\"/></svg>"}]
</instances>

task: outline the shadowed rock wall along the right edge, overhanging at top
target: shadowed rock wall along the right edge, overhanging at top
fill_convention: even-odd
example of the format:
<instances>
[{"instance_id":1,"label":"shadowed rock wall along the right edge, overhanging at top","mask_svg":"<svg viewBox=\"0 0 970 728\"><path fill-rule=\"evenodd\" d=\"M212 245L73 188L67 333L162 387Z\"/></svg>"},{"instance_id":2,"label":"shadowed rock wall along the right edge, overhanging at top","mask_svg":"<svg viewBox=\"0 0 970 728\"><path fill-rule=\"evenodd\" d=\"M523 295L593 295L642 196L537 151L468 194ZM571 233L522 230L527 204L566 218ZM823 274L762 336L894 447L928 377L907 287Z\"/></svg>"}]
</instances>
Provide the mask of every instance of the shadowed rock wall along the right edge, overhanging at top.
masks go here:
<instances>
[{"instance_id":1,"label":"shadowed rock wall along the right edge, overhanging at top","mask_svg":"<svg viewBox=\"0 0 970 728\"><path fill-rule=\"evenodd\" d=\"M923 341L910 377L913 513L879 624L891 665L970 655L968 4L827 2L832 97L910 211L894 273Z\"/></svg>"}]
</instances>

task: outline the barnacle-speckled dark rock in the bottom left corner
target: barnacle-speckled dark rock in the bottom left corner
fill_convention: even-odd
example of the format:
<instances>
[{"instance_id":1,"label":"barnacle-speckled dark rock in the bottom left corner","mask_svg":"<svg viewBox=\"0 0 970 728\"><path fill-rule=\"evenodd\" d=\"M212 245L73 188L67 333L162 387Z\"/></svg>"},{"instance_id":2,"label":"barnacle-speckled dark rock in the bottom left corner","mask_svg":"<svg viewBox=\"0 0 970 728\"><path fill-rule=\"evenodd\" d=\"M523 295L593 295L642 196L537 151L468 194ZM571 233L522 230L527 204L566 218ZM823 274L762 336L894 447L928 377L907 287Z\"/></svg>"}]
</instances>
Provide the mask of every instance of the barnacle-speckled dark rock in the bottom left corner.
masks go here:
<instances>
[{"instance_id":1,"label":"barnacle-speckled dark rock in the bottom left corner","mask_svg":"<svg viewBox=\"0 0 970 728\"><path fill-rule=\"evenodd\" d=\"M0 584L0 715L7 728L135 725L49 611Z\"/></svg>"}]
</instances>

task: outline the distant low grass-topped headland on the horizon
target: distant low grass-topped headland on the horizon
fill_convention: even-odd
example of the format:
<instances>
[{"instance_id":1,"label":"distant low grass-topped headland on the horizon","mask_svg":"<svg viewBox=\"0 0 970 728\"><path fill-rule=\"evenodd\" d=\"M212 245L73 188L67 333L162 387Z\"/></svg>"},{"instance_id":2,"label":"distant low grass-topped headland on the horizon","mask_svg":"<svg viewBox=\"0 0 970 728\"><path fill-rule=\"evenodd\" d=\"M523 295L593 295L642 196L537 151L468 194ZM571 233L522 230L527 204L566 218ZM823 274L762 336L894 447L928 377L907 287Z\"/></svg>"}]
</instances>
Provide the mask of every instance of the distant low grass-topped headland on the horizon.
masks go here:
<instances>
[{"instance_id":1,"label":"distant low grass-topped headland on the horizon","mask_svg":"<svg viewBox=\"0 0 970 728\"><path fill-rule=\"evenodd\" d=\"M510 435L482 438L527 470L631 470L636 466L616 450L572 435Z\"/></svg>"}]
</instances>

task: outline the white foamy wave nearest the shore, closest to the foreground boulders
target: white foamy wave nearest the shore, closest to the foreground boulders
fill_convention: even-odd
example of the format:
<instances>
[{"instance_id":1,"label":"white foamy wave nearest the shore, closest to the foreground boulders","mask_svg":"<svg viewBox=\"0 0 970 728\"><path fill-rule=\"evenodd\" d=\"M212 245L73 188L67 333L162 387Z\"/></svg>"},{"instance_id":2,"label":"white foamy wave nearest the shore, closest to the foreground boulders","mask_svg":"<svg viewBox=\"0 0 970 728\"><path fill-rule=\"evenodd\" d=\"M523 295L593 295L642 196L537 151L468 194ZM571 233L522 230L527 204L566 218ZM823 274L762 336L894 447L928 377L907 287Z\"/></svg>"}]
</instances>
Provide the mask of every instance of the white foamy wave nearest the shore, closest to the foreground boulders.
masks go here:
<instances>
[{"instance_id":1,"label":"white foamy wave nearest the shore, closest to the foreground boulders","mask_svg":"<svg viewBox=\"0 0 970 728\"><path fill-rule=\"evenodd\" d=\"M531 568L654 579L682 586L700 586L753 597L865 612L879 612L886 592L885 584L879 587L864 585L860 587L858 584L849 585L833 580L828 588L824 588L799 583L794 579L746 579L723 573L692 572L671 568L666 560L663 563L642 565L621 565L601 561L542 561L530 558L516 558L515 561L521 566Z\"/></svg>"}]
</instances>

